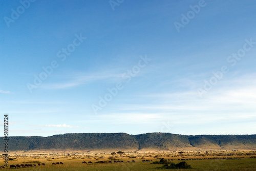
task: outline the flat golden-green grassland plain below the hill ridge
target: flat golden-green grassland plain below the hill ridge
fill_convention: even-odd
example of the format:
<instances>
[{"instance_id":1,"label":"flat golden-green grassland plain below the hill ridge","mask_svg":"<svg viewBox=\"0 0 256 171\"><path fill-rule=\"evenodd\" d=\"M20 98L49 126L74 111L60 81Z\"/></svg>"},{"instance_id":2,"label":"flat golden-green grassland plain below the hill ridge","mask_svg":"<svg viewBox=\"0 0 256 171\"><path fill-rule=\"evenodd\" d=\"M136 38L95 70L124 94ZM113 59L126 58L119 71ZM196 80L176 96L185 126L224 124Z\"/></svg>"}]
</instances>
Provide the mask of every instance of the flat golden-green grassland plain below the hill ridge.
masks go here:
<instances>
[{"instance_id":1,"label":"flat golden-green grassland plain below the hill ridge","mask_svg":"<svg viewBox=\"0 0 256 171\"><path fill-rule=\"evenodd\" d=\"M174 163L185 161L191 169L174 170L256 170L256 152L184 152L175 153L125 153L122 155L111 154L11 154L8 165L36 164L33 167L16 168L15 170L169 170L162 168L163 164L151 164L160 161L160 158L173 159ZM225 158L225 159L222 159ZM182 159L182 160L181 160ZM190 160L189 160L190 159ZM194 160L195 159L195 160ZM114 163L123 160L123 163ZM132 162L132 160L135 161ZM150 160L150 162L142 162ZM151 161L152 160L152 161ZM92 161L93 164L82 164ZM113 163L96 163L99 161L112 161ZM130 162L127 162L130 161ZM0 160L4 163L4 159ZM52 165L53 162L63 162L63 165ZM37 166L45 163L45 166ZM1 164L3 165L3 164ZM8 167L9 168L9 167ZM5 168L5 169L8 169Z\"/></svg>"}]
</instances>

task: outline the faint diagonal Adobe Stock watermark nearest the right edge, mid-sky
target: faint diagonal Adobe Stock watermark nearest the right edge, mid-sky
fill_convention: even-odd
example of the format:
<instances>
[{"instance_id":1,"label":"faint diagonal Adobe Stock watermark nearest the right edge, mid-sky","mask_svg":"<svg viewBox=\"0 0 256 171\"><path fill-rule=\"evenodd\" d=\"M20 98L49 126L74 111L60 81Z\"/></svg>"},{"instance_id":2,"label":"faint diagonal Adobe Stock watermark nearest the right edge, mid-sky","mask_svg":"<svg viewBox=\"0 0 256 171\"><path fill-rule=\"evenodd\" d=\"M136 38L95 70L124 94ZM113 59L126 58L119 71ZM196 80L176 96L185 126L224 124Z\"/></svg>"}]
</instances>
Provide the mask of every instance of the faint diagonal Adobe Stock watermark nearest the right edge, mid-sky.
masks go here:
<instances>
[{"instance_id":1,"label":"faint diagonal Adobe Stock watermark nearest the right edge, mid-sky","mask_svg":"<svg viewBox=\"0 0 256 171\"><path fill-rule=\"evenodd\" d=\"M246 52L249 52L254 45L256 45L255 41L252 41L252 38L245 39L245 44L243 48L239 49L237 53L232 53L230 56L227 57L227 62L230 64L231 67L236 66L237 62L245 56ZM224 76L229 72L228 66L224 65L220 68L219 71L212 72L212 76L209 80L204 80L204 86L202 88L197 89L198 95L202 98L205 93L212 89Z\"/></svg>"}]
</instances>

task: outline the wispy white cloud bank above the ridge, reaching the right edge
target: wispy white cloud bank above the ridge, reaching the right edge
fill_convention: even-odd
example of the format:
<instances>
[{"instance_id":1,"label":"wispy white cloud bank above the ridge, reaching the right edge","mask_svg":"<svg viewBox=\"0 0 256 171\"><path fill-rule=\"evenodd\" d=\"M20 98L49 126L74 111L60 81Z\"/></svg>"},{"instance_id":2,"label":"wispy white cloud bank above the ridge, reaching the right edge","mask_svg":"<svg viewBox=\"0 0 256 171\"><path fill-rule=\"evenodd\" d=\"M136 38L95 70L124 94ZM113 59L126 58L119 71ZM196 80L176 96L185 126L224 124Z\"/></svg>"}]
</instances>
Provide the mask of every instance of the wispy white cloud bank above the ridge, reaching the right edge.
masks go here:
<instances>
[{"instance_id":1,"label":"wispy white cloud bank above the ridge, reaching the right edge","mask_svg":"<svg viewBox=\"0 0 256 171\"><path fill-rule=\"evenodd\" d=\"M179 123L229 123L256 119L256 75L242 75L220 81L200 98L196 89L175 93L136 95L133 102L111 105L100 118L109 122L152 123L165 119ZM146 100L145 100L146 97ZM142 101L143 102L142 102ZM99 120L98 120L99 121Z\"/></svg>"}]
</instances>

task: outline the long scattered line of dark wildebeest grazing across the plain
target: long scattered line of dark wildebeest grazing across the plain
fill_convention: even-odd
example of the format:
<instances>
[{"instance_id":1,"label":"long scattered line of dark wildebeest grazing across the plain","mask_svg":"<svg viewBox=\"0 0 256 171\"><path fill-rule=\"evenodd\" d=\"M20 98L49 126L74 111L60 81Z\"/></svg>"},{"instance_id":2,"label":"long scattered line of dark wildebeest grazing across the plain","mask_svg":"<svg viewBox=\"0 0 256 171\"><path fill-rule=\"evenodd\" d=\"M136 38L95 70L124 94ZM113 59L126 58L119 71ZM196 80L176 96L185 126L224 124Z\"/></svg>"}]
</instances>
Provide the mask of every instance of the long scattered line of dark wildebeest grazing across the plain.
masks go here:
<instances>
[{"instance_id":1,"label":"long scattered line of dark wildebeest grazing across the plain","mask_svg":"<svg viewBox=\"0 0 256 171\"><path fill-rule=\"evenodd\" d=\"M244 157L215 157L215 158L186 158L186 159L178 159L179 161L183 160L214 160L214 159L242 159ZM253 157L255 158L255 157ZM165 161L174 161L174 159L166 159ZM135 160L132 160L131 162L135 163ZM153 162L153 160L142 160L142 162ZM123 163L123 160L114 160L112 161L98 161L96 163ZM129 160L127 160L127 163L130 163ZM53 162L52 165L63 165L63 162ZM82 161L82 164L93 164L92 161L86 162ZM37 163L37 166L45 166L45 163ZM12 164L10 165L10 168L25 168L25 167L33 167L36 166L36 164ZM0 168L6 168L5 166L1 166Z\"/></svg>"}]
</instances>

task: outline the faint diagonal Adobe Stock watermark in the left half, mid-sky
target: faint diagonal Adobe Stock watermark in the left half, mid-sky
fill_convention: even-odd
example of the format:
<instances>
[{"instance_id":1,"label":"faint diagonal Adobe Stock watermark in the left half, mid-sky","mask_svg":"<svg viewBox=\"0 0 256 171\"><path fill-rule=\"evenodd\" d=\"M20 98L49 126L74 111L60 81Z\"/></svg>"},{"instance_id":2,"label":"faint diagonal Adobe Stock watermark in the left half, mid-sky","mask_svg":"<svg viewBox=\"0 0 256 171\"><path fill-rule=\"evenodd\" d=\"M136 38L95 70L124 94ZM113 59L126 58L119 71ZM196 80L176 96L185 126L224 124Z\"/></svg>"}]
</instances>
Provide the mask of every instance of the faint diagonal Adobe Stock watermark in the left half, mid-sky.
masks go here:
<instances>
[{"instance_id":1,"label":"faint diagonal Adobe Stock watermark in the left half, mid-sky","mask_svg":"<svg viewBox=\"0 0 256 171\"><path fill-rule=\"evenodd\" d=\"M72 52L76 50L78 46L80 46L87 37L83 37L82 33L80 35L75 34L75 38L73 42L67 46L67 48L62 48L60 51L57 52L57 57L63 62L67 59L67 56L70 56ZM49 75L53 73L53 70L59 67L59 62L56 60L52 60L49 66L42 66L42 72L38 75L34 74L34 81L33 83L28 82L27 88L30 93L32 93L33 89L38 88L41 85L42 81L46 80Z\"/></svg>"}]
</instances>

